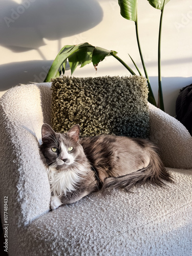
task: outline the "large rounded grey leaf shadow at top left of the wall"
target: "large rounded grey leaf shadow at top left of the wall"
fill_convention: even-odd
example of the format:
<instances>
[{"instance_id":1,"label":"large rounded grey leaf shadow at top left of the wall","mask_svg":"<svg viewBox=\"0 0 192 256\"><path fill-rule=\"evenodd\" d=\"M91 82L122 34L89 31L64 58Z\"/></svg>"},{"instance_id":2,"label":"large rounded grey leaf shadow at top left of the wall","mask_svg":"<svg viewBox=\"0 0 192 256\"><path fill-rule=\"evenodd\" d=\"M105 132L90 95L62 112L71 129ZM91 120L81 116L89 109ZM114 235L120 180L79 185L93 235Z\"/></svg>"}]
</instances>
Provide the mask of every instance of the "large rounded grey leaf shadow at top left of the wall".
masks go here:
<instances>
[{"instance_id":1,"label":"large rounded grey leaf shadow at top left of the wall","mask_svg":"<svg viewBox=\"0 0 192 256\"><path fill-rule=\"evenodd\" d=\"M0 45L25 52L95 27L103 11L96 0L1 0L0 17Z\"/></svg>"}]
</instances>

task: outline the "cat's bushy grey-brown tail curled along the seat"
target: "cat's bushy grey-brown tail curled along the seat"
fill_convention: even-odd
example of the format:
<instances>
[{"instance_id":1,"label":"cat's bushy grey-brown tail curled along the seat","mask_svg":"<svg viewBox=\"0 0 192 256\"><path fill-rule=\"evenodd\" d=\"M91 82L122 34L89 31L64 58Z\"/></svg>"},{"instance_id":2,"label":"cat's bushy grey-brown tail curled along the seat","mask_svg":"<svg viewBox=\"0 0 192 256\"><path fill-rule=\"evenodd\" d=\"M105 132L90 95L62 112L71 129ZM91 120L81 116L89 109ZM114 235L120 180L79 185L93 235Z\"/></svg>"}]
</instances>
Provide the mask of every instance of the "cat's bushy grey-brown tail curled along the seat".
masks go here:
<instances>
[{"instance_id":1,"label":"cat's bushy grey-brown tail curled along the seat","mask_svg":"<svg viewBox=\"0 0 192 256\"><path fill-rule=\"evenodd\" d=\"M167 186L165 182L173 182L156 152L156 148L151 148L149 151L151 160L146 168L124 176L106 178L103 183L103 191L110 188L123 188L129 191L133 186L145 183L165 187Z\"/></svg>"}]
</instances>

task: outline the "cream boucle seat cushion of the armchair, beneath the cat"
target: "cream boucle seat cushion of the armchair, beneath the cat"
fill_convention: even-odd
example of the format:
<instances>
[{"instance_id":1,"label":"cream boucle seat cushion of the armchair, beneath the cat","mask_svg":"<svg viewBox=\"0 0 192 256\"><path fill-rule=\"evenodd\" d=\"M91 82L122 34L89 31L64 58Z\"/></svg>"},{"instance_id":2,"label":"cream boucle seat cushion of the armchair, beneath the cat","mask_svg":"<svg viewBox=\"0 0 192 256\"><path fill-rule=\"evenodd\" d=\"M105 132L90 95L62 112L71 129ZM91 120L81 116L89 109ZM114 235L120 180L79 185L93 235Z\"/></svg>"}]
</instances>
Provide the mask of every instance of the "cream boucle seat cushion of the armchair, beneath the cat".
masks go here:
<instances>
[{"instance_id":1,"label":"cream boucle seat cushion of the armchair, beneath the cat","mask_svg":"<svg viewBox=\"0 0 192 256\"><path fill-rule=\"evenodd\" d=\"M39 254L189 255L192 172L168 170L175 183L166 189L93 193L33 221L28 232Z\"/></svg>"}]
</instances>

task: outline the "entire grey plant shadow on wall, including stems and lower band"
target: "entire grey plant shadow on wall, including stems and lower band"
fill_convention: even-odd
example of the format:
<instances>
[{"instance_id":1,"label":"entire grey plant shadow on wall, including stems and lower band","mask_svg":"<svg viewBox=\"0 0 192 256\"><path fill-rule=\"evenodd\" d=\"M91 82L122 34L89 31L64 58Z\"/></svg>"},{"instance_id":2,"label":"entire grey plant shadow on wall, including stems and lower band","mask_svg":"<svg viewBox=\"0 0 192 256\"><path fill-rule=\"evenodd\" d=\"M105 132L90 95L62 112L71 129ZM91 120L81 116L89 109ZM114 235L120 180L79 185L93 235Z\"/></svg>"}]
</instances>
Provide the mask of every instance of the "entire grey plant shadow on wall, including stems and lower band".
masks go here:
<instances>
[{"instance_id":1,"label":"entire grey plant shadow on wall, including stems and lower band","mask_svg":"<svg viewBox=\"0 0 192 256\"><path fill-rule=\"evenodd\" d=\"M13 62L0 66L1 88L8 90L19 83L41 82L52 61L39 50L44 38L58 41L99 24L103 11L96 0L1 0L0 45L19 53L36 50L43 60Z\"/></svg>"}]
</instances>

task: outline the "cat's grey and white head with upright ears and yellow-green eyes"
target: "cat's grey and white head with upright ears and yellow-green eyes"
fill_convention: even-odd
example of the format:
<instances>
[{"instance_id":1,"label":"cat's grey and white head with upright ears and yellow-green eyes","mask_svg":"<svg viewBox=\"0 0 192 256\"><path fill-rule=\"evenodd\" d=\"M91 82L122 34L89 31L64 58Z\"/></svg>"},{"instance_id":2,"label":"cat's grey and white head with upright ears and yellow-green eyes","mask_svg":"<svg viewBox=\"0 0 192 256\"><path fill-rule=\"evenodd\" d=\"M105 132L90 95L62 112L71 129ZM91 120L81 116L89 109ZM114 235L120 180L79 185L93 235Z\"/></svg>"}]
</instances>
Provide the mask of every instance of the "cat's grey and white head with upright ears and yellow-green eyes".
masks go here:
<instances>
[{"instance_id":1,"label":"cat's grey and white head with upright ears and yellow-green eyes","mask_svg":"<svg viewBox=\"0 0 192 256\"><path fill-rule=\"evenodd\" d=\"M74 125L69 132L55 133L49 124L41 128L42 144L40 151L47 165L56 170L67 170L70 166L84 159L82 146L79 144L80 126Z\"/></svg>"}]
</instances>

